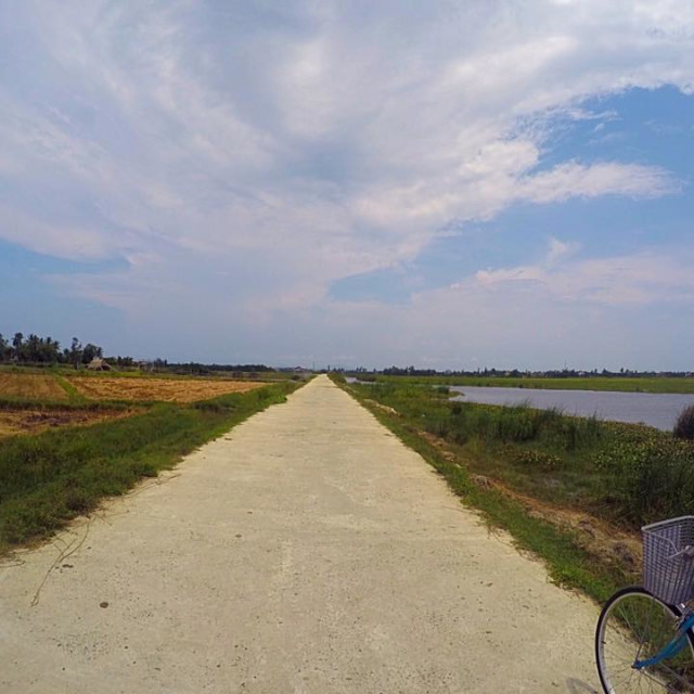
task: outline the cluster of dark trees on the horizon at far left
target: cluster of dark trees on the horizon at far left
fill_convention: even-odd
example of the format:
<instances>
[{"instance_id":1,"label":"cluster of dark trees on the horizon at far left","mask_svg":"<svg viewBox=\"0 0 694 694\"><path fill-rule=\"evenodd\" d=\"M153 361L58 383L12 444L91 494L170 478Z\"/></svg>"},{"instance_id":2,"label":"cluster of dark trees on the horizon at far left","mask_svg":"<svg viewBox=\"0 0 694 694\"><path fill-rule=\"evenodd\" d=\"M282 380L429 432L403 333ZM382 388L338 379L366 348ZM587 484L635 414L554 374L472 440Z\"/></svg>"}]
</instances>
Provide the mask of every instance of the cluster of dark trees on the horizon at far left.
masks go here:
<instances>
[{"instance_id":1,"label":"cluster of dark trees on the horizon at far left","mask_svg":"<svg viewBox=\"0 0 694 694\"><path fill-rule=\"evenodd\" d=\"M72 364L75 369L88 364L94 358L102 358L103 349L98 345L82 345L73 337L69 347L61 349L61 344L52 337L39 337L34 333L25 338L15 333L12 338L0 334L0 360L35 364Z\"/></svg>"}]
</instances>

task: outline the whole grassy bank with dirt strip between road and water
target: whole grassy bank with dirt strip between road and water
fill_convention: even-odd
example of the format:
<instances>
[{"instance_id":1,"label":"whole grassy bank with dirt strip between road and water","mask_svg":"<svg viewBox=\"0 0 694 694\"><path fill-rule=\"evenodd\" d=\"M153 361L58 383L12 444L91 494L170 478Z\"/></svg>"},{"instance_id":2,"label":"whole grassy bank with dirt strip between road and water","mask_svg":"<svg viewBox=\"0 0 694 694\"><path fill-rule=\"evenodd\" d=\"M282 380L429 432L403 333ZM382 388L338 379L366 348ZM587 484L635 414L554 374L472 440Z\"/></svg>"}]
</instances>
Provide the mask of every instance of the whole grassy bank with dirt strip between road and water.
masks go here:
<instances>
[{"instance_id":1,"label":"whole grassy bank with dirt strip between road and water","mask_svg":"<svg viewBox=\"0 0 694 694\"><path fill-rule=\"evenodd\" d=\"M639 528L691 512L694 446L651 427L451 402L400 382L349 391L453 490L597 600L639 579Z\"/></svg>"}]
</instances>

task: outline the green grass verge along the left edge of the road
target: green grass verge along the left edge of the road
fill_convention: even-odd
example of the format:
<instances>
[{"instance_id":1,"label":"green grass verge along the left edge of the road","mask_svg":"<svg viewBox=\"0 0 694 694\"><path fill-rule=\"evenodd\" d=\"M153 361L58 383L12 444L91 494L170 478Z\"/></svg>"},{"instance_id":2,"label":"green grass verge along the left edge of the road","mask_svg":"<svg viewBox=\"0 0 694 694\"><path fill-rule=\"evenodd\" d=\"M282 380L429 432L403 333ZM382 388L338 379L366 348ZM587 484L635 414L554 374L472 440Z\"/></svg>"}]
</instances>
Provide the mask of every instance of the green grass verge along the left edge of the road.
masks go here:
<instances>
[{"instance_id":1,"label":"green grass verge along the left edge of the road","mask_svg":"<svg viewBox=\"0 0 694 694\"><path fill-rule=\"evenodd\" d=\"M296 387L282 383L187 406L159 403L115 422L3 439L0 553L50 536L103 497L174 466Z\"/></svg>"}]
</instances>

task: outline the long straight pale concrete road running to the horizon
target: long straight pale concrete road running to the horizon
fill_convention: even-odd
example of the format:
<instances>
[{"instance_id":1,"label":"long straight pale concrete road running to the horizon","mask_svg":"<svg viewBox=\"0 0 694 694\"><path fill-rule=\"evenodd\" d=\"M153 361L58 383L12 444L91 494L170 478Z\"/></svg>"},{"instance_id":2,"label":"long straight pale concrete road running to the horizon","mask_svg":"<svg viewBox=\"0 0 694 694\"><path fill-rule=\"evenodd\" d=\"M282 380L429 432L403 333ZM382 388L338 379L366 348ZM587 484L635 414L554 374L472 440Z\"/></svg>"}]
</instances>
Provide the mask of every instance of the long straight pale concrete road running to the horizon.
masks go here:
<instances>
[{"instance_id":1,"label":"long straight pale concrete road running to the horizon","mask_svg":"<svg viewBox=\"0 0 694 694\"><path fill-rule=\"evenodd\" d=\"M325 377L163 481L2 564L0 692L595 686L596 608Z\"/></svg>"}]
</instances>

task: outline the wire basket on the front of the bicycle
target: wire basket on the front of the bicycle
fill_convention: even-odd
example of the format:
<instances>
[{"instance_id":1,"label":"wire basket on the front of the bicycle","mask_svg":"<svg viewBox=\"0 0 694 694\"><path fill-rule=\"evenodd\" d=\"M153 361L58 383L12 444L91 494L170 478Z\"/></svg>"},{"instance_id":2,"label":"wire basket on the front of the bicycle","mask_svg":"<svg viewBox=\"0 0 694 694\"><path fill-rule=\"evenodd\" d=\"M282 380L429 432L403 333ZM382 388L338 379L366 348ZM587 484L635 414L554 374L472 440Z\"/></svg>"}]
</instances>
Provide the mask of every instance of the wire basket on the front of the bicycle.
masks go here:
<instances>
[{"instance_id":1,"label":"wire basket on the front of the bicycle","mask_svg":"<svg viewBox=\"0 0 694 694\"><path fill-rule=\"evenodd\" d=\"M643 587L669 605L694 599L694 516L641 528Z\"/></svg>"}]
</instances>

